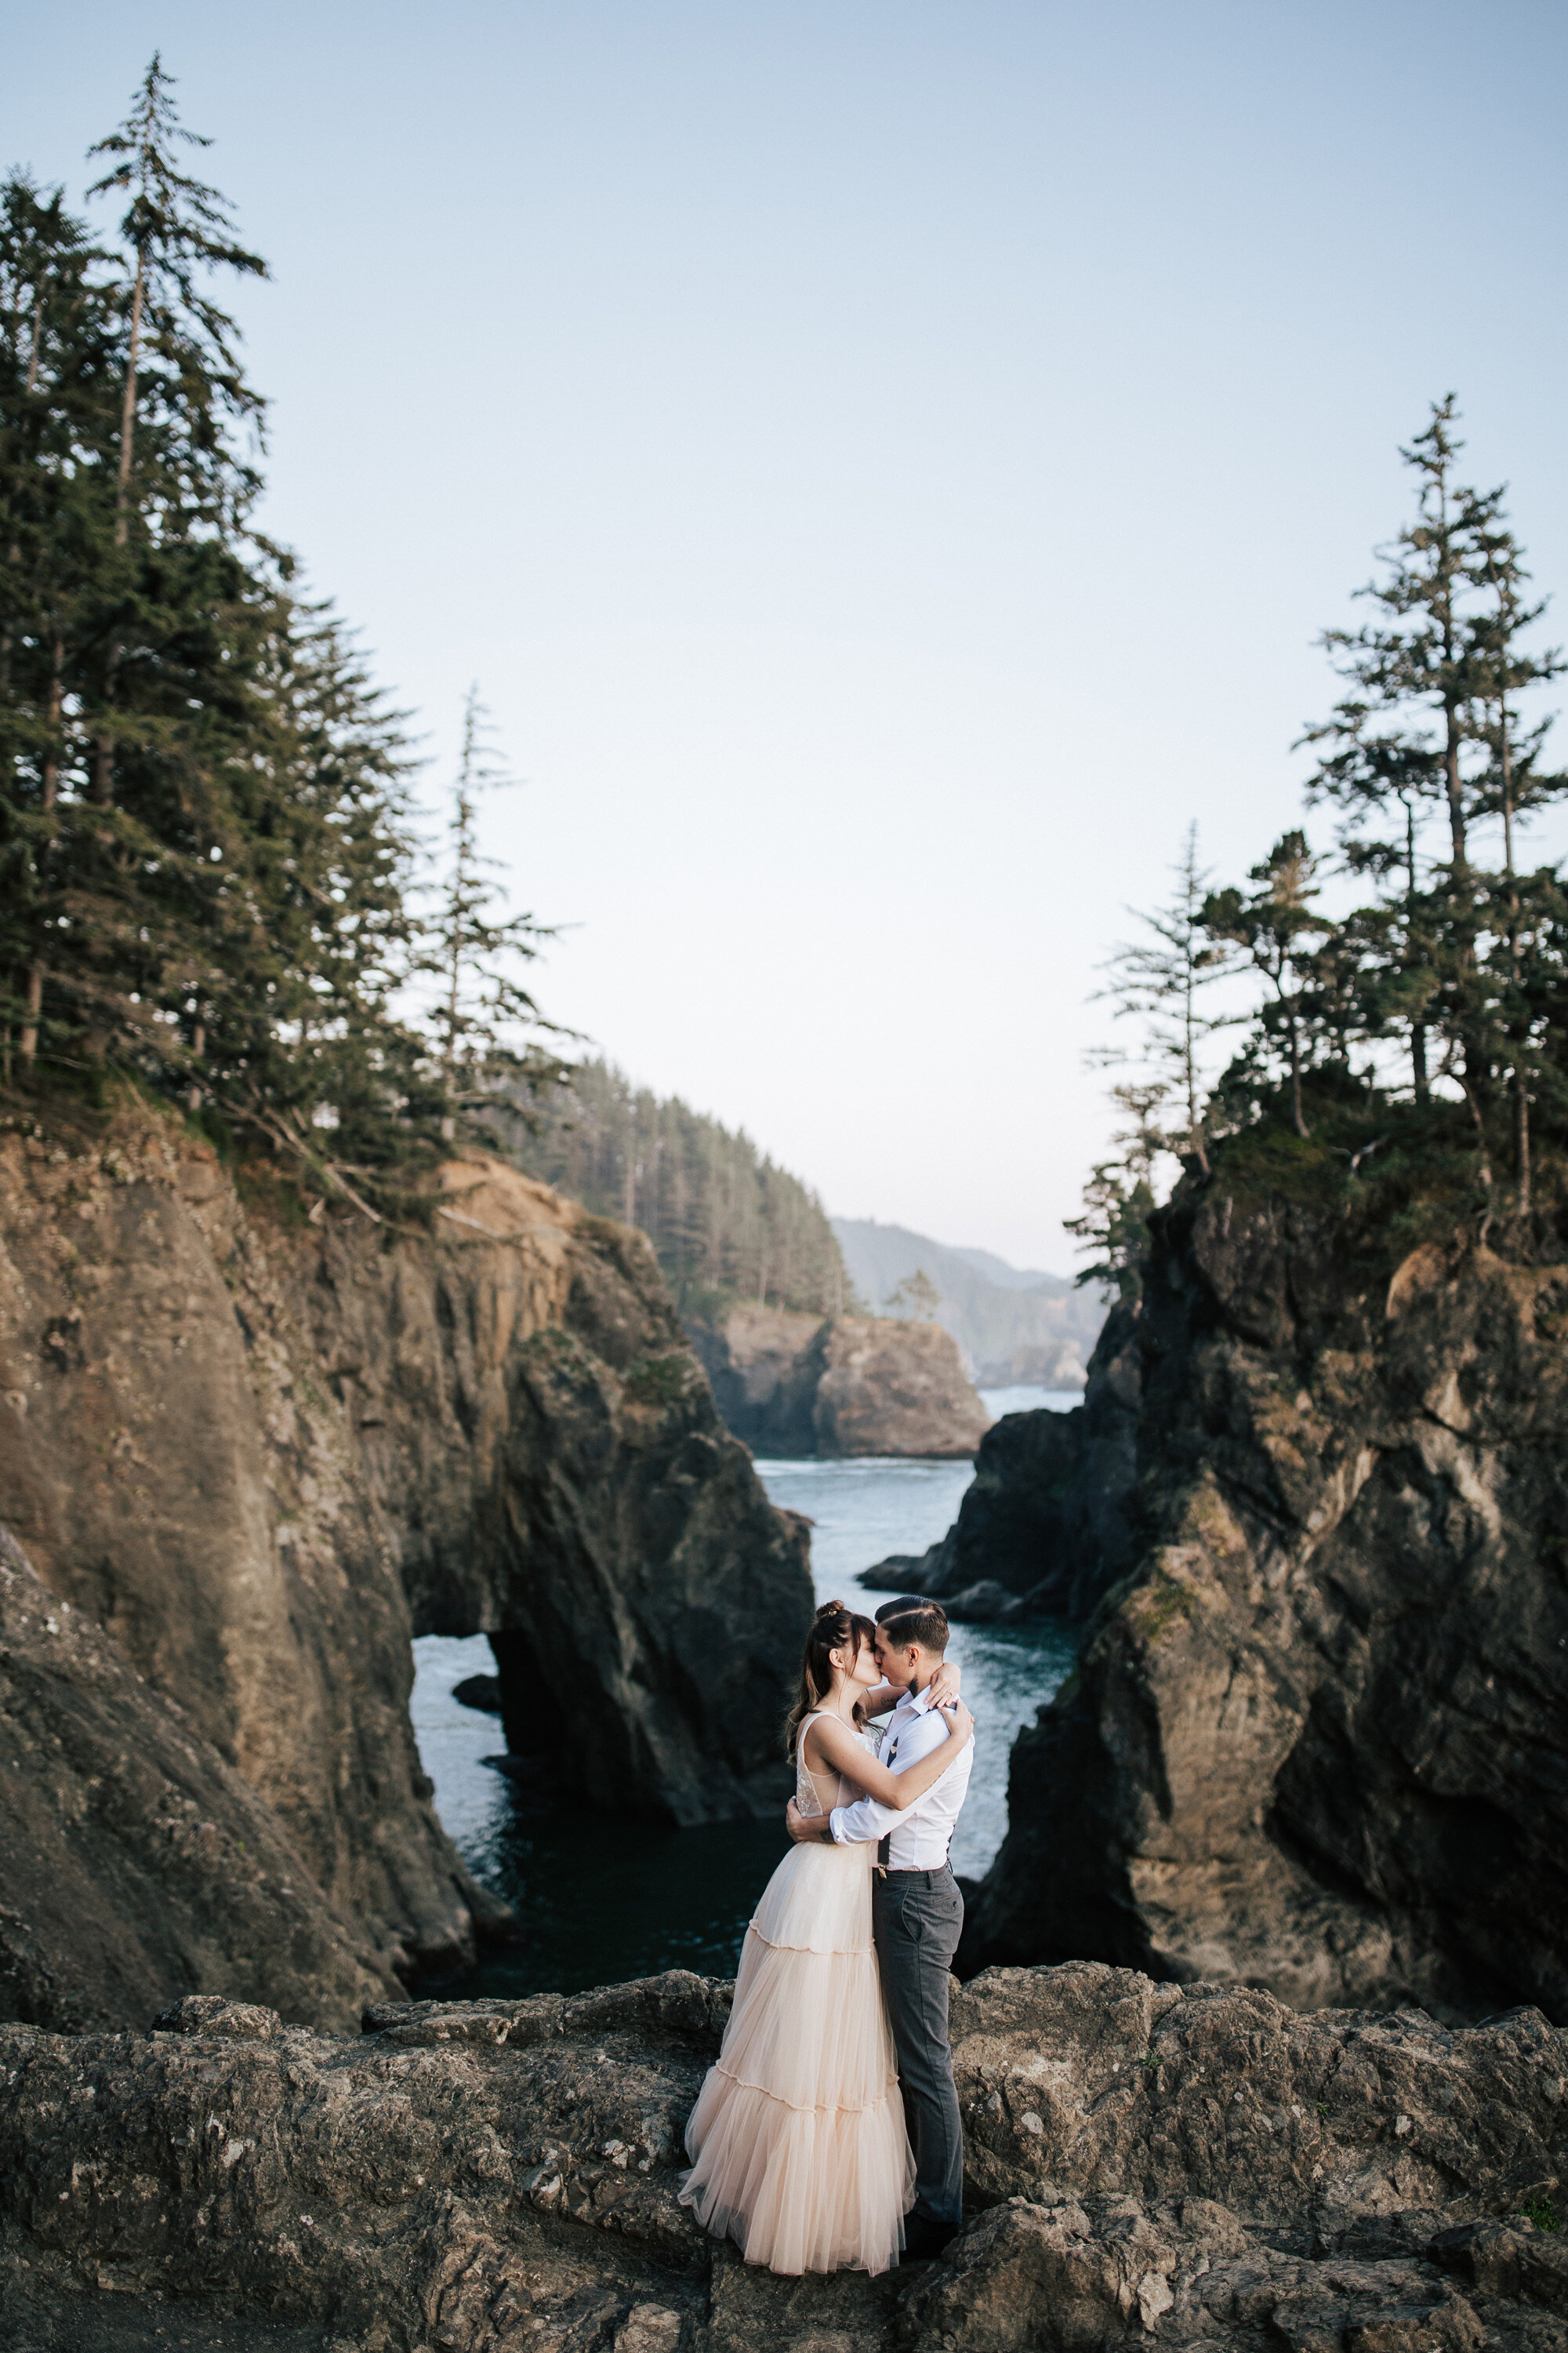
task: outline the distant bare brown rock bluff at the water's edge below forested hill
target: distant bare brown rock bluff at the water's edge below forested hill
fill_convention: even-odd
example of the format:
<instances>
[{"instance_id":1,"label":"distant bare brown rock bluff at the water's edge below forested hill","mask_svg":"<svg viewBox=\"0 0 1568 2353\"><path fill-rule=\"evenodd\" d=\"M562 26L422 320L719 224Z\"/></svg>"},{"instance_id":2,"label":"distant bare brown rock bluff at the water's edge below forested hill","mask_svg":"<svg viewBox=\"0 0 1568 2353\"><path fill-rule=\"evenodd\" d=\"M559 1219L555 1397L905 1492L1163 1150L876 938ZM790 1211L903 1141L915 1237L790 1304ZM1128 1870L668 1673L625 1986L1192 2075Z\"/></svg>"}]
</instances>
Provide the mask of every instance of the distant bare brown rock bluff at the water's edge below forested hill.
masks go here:
<instances>
[{"instance_id":1,"label":"distant bare brown rock bluff at the water's edge below forested hill","mask_svg":"<svg viewBox=\"0 0 1568 2353\"><path fill-rule=\"evenodd\" d=\"M689 1320L729 1428L757 1454L969 1457L987 1428L940 1325L741 1304Z\"/></svg>"}]
</instances>

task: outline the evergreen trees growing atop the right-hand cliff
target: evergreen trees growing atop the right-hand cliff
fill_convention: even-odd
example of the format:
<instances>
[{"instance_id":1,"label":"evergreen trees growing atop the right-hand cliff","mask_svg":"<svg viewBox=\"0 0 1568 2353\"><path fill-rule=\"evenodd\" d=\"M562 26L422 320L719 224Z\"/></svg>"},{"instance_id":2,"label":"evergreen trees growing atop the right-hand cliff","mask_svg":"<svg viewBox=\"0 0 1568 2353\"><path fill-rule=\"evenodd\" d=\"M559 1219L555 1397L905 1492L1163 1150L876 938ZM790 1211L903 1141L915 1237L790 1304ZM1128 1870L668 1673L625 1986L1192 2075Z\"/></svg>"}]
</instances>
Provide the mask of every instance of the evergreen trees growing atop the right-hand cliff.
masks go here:
<instances>
[{"instance_id":1,"label":"evergreen trees growing atop the right-hand cliff","mask_svg":"<svg viewBox=\"0 0 1568 2353\"><path fill-rule=\"evenodd\" d=\"M1392 1247L1455 1226L1526 1242L1547 1169L1559 1191L1568 892L1521 861L1521 828L1568 798L1540 708L1566 664L1535 642L1505 494L1465 485L1460 452L1448 398L1401 452L1415 515L1361 591L1375 619L1324 633L1345 694L1302 741L1338 856L1293 828L1211 889L1190 835L1168 906L1110 960L1145 1049L1072 1224L1081 1280L1138 1297L1173 1167L1239 1200L1340 1202ZM1241 1047L1215 1080L1225 1028Z\"/></svg>"}]
</instances>

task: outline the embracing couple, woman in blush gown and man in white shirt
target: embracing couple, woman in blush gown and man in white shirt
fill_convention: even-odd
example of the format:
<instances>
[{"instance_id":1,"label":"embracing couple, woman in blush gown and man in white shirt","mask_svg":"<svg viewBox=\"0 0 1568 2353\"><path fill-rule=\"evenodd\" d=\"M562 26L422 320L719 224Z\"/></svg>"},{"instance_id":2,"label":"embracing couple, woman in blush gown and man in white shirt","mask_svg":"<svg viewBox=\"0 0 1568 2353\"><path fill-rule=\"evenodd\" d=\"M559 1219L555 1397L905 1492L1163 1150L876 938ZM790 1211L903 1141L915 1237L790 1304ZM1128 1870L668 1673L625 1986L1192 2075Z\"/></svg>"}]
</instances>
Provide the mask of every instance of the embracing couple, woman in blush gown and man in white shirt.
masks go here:
<instances>
[{"instance_id":1,"label":"embracing couple, woman in blush gown and man in white shirt","mask_svg":"<svg viewBox=\"0 0 1568 2353\"><path fill-rule=\"evenodd\" d=\"M741 1946L679 2193L769 2271L886 2271L961 2219L947 1847L973 1718L945 1652L945 1612L917 1598L877 1624L823 1602L806 1635L785 1727L792 1845Z\"/></svg>"}]
</instances>

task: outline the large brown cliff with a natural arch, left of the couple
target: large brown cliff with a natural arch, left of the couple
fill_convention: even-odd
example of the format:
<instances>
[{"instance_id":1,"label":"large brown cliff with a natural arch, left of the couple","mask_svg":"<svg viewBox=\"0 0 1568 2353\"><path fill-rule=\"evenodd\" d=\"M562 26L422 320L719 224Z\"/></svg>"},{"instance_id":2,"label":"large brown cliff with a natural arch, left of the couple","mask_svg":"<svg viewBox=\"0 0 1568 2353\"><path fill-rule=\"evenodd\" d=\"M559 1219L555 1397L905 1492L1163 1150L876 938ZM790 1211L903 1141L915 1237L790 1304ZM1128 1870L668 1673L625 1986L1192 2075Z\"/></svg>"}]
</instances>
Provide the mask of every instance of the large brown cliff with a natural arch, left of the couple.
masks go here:
<instances>
[{"instance_id":1,"label":"large brown cliff with a natural arch, left of the couple","mask_svg":"<svg viewBox=\"0 0 1568 2353\"><path fill-rule=\"evenodd\" d=\"M242 1202L139 1104L33 1125L0 1134L0 1520L378 1965L505 1922L430 1812L416 1631L491 1633L517 1739L604 1805L776 1802L804 1529L642 1235L484 1155L393 1231L266 1179Z\"/></svg>"}]
</instances>

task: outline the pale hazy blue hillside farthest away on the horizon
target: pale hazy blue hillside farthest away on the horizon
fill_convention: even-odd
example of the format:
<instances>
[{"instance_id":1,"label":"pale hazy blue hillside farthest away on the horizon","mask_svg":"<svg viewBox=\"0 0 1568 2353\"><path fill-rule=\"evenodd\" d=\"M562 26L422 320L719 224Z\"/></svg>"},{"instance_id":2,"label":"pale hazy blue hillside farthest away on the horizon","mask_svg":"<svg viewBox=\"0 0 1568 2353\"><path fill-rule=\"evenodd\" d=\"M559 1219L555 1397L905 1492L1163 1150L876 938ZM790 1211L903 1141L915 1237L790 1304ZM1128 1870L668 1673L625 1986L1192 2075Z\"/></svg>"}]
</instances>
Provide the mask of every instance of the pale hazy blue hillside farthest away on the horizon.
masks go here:
<instances>
[{"instance_id":1,"label":"pale hazy blue hillside farthest away on the horizon","mask_svg":"<svg viewBox=\"0 0 1568 2353\"><path fill-rule=\"evenodd\" d=\"M973 1379L987 1388L1039 1381L1081 1388L1084 1365L1105 1322L1105 1299L1065 1275L1009 1266L990 1249L950 1249L875 1217L835 1217L849 1280L877 1315L907 1315L893 1292L924 1273L940 1292L936 1322L957 1339Z\"/></svg>"}]
</instances>

